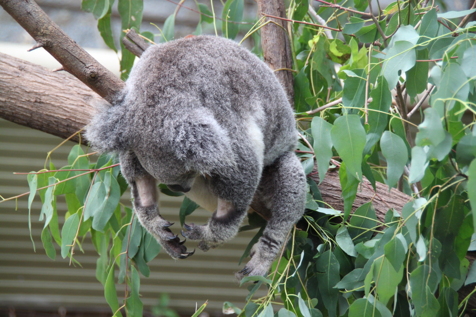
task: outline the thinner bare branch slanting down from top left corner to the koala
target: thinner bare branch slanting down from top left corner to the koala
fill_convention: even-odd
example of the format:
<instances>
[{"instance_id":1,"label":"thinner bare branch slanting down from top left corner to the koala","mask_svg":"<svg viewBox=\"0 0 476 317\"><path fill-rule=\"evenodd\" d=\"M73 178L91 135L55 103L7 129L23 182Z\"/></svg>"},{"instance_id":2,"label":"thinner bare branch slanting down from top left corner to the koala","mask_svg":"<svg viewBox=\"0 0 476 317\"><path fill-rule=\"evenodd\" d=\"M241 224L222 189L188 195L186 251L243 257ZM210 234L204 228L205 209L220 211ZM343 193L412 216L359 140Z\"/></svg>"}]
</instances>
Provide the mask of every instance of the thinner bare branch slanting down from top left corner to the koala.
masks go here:
<instances>
[{"instance_id":1,"label":"thinner bare branch slanting down from top left corner to the koala","mask_svg":"<svg viewBox=\"0 0 476 317\"><path fill-rule=\"evenodd\" d=\"M124 82L83 50L33 0L0 0L0 6L76 78L111 101Z\"/></svg>"}]
</instances>

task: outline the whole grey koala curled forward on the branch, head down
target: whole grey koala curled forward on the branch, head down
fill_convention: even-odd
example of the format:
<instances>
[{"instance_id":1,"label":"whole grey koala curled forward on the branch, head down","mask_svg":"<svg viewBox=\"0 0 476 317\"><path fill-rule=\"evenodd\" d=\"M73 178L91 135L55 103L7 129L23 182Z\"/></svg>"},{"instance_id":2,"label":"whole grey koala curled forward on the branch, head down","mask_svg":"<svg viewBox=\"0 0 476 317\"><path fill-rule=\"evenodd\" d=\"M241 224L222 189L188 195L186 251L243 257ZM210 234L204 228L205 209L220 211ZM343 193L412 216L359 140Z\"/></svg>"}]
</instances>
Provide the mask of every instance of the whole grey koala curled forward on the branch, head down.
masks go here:
<instances>
[{"instance_id":1,"label":"whole grey koala curled forward on the branch, head down","mask_svg":"<svg viewBox=\"0 0 476 317\"><path fill-rule=\"evenodd\" d=\"M142 227L172 258L195 249L187 251L160 216L157 182L213 212L208 223L181 230L202 251L238 233L253 199L271 211L238 279L267 274L304 212L306 178L286 93L264 62L232 40L200 35L150 46L86 137L119 155Z\"/></svg>"}]
</instances>

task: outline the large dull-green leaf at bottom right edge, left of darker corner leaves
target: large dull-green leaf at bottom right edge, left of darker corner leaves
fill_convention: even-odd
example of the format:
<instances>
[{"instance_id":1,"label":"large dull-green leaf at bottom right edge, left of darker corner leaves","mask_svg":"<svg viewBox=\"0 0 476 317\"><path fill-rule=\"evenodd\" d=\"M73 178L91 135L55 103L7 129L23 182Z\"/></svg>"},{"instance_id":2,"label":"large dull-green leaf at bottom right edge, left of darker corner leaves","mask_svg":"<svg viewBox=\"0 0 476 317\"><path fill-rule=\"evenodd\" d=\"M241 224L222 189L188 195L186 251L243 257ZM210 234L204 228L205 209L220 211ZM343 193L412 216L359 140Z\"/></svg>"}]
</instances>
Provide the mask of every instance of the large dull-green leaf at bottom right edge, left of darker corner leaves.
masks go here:
<instances>
[{"instance_id":1,"label":"large dull-green leaf at bottom right edge, left of darker corner leaves","mask_svg":"<svg viewBox=\"0 0 476 317\"><path fill-rule=\"evenodd\" d=\"M436 272L426 264L421 265L410 274L409 285L417 316L436 316L440 307L435 295L433 295L438 285Z\"/></svg>"}]
</instances>

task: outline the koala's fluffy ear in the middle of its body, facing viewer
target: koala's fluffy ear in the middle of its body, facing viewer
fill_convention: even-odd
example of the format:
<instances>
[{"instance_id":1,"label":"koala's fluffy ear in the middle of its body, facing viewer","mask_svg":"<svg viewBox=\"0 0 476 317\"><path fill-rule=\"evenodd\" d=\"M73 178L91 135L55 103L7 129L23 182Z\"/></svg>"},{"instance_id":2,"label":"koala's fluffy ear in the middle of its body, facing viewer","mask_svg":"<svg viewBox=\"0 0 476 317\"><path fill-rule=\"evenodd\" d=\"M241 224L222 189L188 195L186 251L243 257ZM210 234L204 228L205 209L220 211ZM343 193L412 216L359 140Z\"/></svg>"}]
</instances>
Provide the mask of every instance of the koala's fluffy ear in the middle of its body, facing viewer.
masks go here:
<instances>
[{"instance_id":1,"label":"koala's fluffy ear in the middle of its body, facing viewer","mask_svg":"<svg viewBox=\"0 0 476 317\"><path fill-rule=\"evenodd\" d=\"M202 174L222 173L235 165L228 132L207 110L173 119L170 146L186 166ZM168 127L164 127L168 128Z\"/></svg>"}]
</instances>

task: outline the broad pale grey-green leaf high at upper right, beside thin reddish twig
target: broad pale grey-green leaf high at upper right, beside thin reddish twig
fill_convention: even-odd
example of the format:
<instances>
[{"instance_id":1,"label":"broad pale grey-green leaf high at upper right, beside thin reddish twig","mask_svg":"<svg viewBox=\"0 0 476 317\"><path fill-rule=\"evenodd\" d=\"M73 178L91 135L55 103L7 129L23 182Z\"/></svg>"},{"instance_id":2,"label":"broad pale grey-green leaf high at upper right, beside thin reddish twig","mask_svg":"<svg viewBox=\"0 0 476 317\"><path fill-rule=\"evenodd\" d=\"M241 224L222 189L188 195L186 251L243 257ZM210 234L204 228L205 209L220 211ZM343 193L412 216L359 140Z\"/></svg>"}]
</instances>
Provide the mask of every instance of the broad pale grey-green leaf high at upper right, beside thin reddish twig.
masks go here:
<instances>
[{"instance_id":1,"label":"broad pale grey-green leaf high at upper right, beside thin reddish twig","mask_svg":"<svg viewBox=\"0 0 476 317\"><path fill-rule=\"evenodd\" d=\"M399 72L411 69L417 60L414 44L408 41L397 41L387 52L386 59L382 64L380 75L384 75L388 82L388 88L393 89L397 85Z\"/></svg>"}]
</instances>

